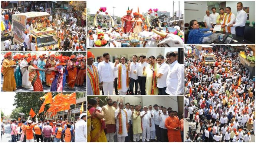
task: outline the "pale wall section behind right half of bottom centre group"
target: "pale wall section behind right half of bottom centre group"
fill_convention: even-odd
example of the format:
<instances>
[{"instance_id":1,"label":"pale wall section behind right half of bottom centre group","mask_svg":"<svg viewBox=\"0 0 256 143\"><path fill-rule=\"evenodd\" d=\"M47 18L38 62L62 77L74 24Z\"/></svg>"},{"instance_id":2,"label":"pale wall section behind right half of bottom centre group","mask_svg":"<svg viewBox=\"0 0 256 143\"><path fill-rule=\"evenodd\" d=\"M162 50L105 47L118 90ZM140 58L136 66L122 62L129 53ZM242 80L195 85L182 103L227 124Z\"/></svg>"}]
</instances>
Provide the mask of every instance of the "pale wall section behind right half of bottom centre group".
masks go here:
<instances>
[{"instance_id":1,"label":"pale wall section behind right half of bottom centre group","mask_svg":"<svg viewBox=\"0 0 256 143\"><path fill-rule=\"evenodd\" d=\"M171 107L174 111L178 111L177 96L142 96L142 106L162 105L163 107Z\"/></svg>"}]
</instances>

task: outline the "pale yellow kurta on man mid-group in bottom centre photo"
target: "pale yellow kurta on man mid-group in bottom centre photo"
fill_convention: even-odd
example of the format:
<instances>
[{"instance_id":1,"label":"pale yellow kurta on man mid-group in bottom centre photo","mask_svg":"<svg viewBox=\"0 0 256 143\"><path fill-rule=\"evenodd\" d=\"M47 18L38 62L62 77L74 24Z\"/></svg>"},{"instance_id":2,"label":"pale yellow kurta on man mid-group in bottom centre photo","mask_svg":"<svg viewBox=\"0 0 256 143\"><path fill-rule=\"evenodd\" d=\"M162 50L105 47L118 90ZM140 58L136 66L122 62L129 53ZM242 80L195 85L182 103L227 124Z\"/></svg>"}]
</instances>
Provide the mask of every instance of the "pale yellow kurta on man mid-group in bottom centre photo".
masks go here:
<instances>
[{"instance_id":1,"label":"pale yellow kurta on man mid-group in bottom centre photo","mask_svg":"<svg viewBox=\"0 0 256 143\"><path fill-rule=\"evenodd\" d=\"M141 128L141 114L139 111L134 111L132 115L132 130L133 134L138 134L142 133L142 128Z\"/></svg>"}]
</instances>

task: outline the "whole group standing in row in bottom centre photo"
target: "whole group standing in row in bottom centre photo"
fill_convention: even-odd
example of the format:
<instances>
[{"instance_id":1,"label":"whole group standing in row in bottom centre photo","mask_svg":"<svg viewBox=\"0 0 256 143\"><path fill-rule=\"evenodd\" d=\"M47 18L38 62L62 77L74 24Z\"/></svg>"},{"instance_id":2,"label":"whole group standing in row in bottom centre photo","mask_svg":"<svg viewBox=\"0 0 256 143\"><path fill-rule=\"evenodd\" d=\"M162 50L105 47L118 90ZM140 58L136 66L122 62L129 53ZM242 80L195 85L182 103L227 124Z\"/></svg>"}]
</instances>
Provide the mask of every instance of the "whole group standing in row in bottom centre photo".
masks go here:
<instances>
[{"instance_id":1,"label":"whole group standing in row in bottom centre photo","mask_svg":"<svg viewBox=\"0 0 256 143\"><path fill-rule=\"evenodd\" d=\"M88 99L88 142L182 142L183 119L171 107Z\"/></svg>"}]
</instances>

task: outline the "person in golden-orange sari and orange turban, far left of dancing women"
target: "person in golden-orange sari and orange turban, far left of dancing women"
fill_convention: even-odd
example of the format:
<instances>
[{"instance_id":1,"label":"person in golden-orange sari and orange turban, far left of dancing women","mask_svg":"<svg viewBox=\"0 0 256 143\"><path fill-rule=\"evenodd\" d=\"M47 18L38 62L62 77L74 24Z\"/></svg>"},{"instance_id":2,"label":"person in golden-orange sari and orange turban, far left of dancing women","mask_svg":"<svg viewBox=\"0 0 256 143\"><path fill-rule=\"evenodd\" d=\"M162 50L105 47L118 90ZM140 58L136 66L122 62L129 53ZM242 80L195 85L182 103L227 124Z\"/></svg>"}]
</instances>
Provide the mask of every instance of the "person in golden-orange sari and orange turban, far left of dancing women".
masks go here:
<instances>
[{"instance_id":1,"label":"person in golden-orange sari and orange turban, far left of dancing women","mask_svg":"<svg viewBox=\"0 0 256 143\"><path fill-rule=\"evenodd\" d=\"M4 59L3 60L3 91L16 91L16 82L14 78L14 68L11 67L15 65L13 60Z\"/></svg>"}]
</instances>

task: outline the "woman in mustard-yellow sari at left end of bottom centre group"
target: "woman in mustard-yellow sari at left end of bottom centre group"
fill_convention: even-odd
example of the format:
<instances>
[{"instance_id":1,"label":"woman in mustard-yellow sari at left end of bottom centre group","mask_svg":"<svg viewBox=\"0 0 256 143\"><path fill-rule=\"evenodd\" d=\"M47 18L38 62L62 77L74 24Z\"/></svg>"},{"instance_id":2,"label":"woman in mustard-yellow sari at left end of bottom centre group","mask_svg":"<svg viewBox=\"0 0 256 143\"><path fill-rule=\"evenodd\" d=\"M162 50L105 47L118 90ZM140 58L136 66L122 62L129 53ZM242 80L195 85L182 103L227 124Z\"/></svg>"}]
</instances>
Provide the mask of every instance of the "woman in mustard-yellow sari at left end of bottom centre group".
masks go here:
<instances>
[{"instance_id":1,"label":"woman in mustard-yellow sari at left end of bottom centre group","mask_svg":"<svg viewBox=\"0 0 256 143\"><path fill-rule=\"evenodd\" d=\"M91 118L91 124L93 129L91 129L91 142L107 142L106 135L104 132L105 124L102 119L104 118L104 112L96 109L97 101L94 98L88 100L88 111L91 116L88 116L88 119ZM103 126L104 125L104 126Z\"/></svg>"}]
</instances>

